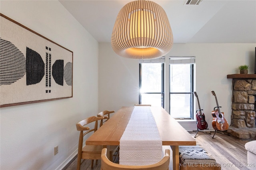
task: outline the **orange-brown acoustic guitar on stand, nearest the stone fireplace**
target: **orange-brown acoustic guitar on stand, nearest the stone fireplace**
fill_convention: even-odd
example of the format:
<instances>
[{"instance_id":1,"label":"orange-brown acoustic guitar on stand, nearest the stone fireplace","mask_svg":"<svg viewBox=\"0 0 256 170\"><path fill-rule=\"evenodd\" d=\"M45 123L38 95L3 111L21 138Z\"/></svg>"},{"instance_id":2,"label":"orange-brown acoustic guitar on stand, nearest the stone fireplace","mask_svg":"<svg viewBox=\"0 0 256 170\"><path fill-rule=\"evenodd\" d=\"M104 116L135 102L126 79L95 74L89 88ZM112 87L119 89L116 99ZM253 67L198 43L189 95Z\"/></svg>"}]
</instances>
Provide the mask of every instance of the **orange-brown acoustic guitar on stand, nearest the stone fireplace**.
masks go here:
<instances>
[{"instance_id":1,"label":"orange-brown acoustic guitar on stand, nearest the stone fireplace","mask_svg":"<svg viewBox=\"0 0 256 170\"><path fill-rule=\"evenodd\" d=\"M220 106L218 104L218 100L214 91L212 91L212 95L215 97L217 107L214 107L214 111L212 111L212 127L215 130L226 131L228 130L228 121L224 117L224 113L220 112ZM217 109L215 109L217 108Z\"/></svg>"}]
</instances>

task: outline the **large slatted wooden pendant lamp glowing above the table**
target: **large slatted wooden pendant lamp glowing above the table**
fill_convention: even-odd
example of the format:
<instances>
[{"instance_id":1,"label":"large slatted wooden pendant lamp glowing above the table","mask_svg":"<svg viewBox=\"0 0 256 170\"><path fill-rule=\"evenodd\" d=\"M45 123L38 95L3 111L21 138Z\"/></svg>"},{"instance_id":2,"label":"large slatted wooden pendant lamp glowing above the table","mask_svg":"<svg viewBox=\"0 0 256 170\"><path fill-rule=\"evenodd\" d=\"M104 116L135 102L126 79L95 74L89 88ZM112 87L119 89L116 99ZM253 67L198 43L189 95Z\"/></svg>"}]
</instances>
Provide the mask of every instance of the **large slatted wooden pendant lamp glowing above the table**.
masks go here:
<instances>
[{"instance_id":1,"label":"large slatted wooden pendant lamp glowing above the table","mask_svg":"<svg viewBox=\"0 0 256 170\"><path fill-rule=\"evenodd\" d=\"M118 13L111 37L112 48L118 55L154 59L166 55L172 44L167 15L155 2L129 2Z\"/></svg>"}]
</instances>

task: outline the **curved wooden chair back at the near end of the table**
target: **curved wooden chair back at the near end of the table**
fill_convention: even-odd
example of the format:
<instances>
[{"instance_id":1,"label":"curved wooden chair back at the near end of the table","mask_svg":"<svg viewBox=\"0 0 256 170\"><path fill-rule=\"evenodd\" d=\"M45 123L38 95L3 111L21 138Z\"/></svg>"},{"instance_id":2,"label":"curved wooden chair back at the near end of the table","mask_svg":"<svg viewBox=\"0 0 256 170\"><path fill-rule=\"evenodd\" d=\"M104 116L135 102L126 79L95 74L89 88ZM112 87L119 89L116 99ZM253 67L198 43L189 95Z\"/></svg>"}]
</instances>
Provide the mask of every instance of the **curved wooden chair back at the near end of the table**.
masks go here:
<instances>
[{"instance_id":1,"label":"curved wooden chair back at the near end of the table","mask_svg":"<svg viewBox=\"0 0 256 170\"><path fill-rule=\"evenodd\" d=\"M100 170L169 170L170 150L165 150L165 156L155 164L151 165L120 165L111 162L107 157L107 149L101 152L101 168Z\"/></svg>"}]
</instances>

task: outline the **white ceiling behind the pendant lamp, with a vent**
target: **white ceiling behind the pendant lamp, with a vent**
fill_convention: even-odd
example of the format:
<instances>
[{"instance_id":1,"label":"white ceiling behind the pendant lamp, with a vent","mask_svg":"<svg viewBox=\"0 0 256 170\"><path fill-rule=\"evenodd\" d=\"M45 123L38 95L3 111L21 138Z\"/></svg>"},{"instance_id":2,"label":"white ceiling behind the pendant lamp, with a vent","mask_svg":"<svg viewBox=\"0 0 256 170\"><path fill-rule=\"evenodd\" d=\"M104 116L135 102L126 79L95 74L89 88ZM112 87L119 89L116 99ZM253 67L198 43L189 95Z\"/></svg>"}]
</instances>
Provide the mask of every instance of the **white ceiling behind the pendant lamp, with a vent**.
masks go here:
<instances>
[{"instance_id":1,"label":"white ceiling behind the pendant lamp, with a vent","mask_svg":"<svg viewBox=\"0 0 256 170\"><path fill-rule=\"evenodd\" d=\"M59 0L98 41L110 42L120 9L132 0ZM152 0L164 8L174 43L256 43L256 0Z\"/></svg>"}]
</instances>

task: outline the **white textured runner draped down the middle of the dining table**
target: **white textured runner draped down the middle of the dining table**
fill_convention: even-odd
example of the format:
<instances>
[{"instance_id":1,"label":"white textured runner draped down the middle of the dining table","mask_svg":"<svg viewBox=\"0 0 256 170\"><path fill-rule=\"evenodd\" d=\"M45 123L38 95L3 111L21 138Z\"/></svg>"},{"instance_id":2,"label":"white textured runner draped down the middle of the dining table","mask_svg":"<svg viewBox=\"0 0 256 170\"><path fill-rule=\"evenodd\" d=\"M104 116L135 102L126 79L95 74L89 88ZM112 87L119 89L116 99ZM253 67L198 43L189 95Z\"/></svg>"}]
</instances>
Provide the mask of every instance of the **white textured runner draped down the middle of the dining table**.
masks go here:
<instances>
[{"instance_id":1,"label":"white textured runner draped down the middle of the dining table","mask_svg":"<svg viewBox=\"0 0 256 170\"><path fill-rule=\"evenodd\" d=\"M120 139L119 164L148 165L162 158L162 139L150 106L134 106Z\"/></svg>"}]
</instances>

